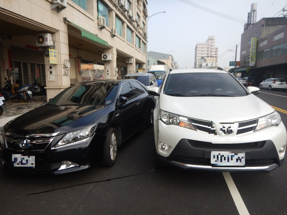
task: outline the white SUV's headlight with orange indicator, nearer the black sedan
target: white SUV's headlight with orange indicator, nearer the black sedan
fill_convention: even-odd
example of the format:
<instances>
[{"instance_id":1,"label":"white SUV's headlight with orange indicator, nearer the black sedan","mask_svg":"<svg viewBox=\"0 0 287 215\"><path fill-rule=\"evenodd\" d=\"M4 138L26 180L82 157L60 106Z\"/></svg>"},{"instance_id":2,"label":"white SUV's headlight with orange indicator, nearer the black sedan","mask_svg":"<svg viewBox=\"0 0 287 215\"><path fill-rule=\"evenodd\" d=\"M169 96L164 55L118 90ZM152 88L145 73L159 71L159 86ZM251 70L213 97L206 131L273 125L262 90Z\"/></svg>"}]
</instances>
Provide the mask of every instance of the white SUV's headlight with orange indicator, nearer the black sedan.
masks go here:
<instances>
[{"instance_id":1,"label":"white SUV's headlight with orange indicator, nearer the black sedan","mask_svg":"<svg viewBox=\"0 0 287 215\"><path fill-rule=\"evenodd\" d=\"M190 123L189 119L186 116L176 115L174 113L169 113L164 110L160 110L160 119L167 125L178 125L183 128L189 128L196 130L194 126Z\"/></svg>"}]
</instances>

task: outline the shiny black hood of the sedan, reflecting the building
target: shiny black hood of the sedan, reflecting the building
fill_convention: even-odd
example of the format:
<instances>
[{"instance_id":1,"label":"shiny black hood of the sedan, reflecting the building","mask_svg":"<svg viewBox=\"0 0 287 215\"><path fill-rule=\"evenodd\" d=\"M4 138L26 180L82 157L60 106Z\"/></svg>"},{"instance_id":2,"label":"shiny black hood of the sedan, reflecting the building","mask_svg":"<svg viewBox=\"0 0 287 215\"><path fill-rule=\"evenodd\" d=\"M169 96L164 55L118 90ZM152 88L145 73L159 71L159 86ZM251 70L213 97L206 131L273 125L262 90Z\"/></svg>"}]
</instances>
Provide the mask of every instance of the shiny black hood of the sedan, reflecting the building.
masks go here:
<instances>
[{"instance_id":1,"label":"shiny black hood of the sedan, reflecting the building","mask_svg":"<svg viewBox=\"0 0 287 215\"><path fill-rule=\"evenodd\" d=\"M8 132L66 133L91 125L90 122L107 108L107 105L42 105L14 119Z\"/></svg>"}]
</instances>

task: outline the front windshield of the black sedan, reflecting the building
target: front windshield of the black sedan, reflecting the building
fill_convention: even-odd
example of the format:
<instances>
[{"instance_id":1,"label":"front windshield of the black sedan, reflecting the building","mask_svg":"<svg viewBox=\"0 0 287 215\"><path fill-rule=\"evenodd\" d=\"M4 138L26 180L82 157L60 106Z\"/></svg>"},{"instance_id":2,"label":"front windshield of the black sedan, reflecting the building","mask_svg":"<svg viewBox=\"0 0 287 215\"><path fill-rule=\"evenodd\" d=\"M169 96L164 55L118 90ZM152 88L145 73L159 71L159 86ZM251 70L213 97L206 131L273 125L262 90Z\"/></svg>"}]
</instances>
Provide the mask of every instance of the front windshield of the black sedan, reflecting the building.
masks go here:
<instances>
[{"instance_id":1,"label":"front windshield of the black sedan, reflecting the building","mask_svg":"<svg viewBox=\"0 0 287 215\"><path fill-rule=\"evenodd\" d=\"M109 105L115 98L117 83L75 84L51 99L47 105Z\"/></svg>"}]
</instances>

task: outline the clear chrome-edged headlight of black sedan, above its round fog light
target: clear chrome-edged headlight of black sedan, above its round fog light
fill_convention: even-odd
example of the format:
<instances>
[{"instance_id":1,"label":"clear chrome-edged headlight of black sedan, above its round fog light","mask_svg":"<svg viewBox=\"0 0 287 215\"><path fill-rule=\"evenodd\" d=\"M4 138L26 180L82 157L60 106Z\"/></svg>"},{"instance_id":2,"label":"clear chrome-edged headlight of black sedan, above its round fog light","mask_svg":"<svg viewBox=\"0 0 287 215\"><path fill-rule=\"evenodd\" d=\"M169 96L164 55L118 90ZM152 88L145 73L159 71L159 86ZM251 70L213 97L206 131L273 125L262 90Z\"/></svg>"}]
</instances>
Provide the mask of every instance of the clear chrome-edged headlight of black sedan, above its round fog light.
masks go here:
<instances>
[{"instance_id":1,"label":"clear chrome-edged headlight of black sedan, above its round fog light","mask_svg":"<svg viewBox=\"0 0 287 215\"><path fill-rule=\"evenodd\" d=\"M65 136L54 146L54 148L85 142L91 138L92 133L96 129L97 124L89 127L66 133Z\"/></svg>"}]
</instances>

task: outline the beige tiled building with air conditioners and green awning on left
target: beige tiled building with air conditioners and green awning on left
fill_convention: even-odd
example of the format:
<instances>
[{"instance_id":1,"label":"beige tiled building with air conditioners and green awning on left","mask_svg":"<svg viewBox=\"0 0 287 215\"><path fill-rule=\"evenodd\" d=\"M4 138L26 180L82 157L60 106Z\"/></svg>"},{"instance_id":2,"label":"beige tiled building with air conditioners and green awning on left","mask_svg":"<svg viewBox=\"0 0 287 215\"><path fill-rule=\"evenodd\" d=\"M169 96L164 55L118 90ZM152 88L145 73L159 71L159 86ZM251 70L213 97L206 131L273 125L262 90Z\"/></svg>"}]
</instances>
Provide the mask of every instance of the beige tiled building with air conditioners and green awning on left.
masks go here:
<instances>
[{"instance_id":1,"label":"beige tiled building with air conditioners and green awning on left","mask_svg":"<svg viewBox=\"0 0 287 215\"><path fill-rule=\"evenodd\" d=\"M147 17L147 0L2 0L1 87L37 77L48 100L76 82L134 73L146 63Z\"/></svg>"}]
</instances>

